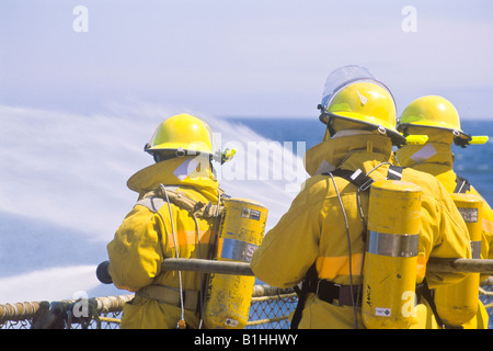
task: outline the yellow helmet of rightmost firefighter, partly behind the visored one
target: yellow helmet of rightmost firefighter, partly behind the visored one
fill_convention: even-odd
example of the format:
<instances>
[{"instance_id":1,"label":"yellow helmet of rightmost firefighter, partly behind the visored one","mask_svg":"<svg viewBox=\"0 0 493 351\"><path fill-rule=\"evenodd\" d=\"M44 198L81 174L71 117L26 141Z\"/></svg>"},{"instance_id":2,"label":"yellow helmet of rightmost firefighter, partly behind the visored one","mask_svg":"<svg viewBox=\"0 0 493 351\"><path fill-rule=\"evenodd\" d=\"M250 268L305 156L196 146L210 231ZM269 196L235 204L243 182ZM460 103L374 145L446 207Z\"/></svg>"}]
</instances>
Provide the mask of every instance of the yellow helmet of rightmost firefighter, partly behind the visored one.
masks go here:
<instances>
[{"instance_id":1,"label":"yellow helmet of rightmost firefighter, partly behind the visored one","mask_svg":"<svg viewBox=\"0 0 493 351\"><path fill-rule=\"evenodd\" d=\"M402 112L398 131L404 133L409 126L450 131L456 145L484 144L486 136L471 137L460 127L459 113L450 101L437 95L422 97L411 102Z\"/></svg>"}]
</instances>

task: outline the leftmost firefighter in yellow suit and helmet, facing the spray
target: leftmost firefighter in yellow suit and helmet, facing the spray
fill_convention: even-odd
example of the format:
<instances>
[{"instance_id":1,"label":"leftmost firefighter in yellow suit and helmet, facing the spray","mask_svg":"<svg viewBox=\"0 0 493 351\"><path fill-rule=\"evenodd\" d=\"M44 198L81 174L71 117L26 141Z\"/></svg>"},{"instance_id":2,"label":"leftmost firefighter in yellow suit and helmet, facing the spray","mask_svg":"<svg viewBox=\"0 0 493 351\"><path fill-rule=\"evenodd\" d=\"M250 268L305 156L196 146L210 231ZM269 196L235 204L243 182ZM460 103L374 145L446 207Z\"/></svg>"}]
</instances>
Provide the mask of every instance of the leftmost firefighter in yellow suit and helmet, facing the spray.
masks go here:
<instances>
[{"instance_id":1,"label":"leftmost firefighter in yellow suit and helmet, facing the spray","mask_svg":"<svg viewBox=\"0 0 493 351\"><path fill-rule=\"evenodd\" d=\"M199 327L204 275L163 271L161 262L210 258L216 218L195 216L170 197L218 204L218 182L209 163L214 147L207 124L188 114L162 122L146 145L156 163L128 180L138 201L107 245L114 284L136 292L124 306L122 328Z\"/></svg>"}]
</instances>

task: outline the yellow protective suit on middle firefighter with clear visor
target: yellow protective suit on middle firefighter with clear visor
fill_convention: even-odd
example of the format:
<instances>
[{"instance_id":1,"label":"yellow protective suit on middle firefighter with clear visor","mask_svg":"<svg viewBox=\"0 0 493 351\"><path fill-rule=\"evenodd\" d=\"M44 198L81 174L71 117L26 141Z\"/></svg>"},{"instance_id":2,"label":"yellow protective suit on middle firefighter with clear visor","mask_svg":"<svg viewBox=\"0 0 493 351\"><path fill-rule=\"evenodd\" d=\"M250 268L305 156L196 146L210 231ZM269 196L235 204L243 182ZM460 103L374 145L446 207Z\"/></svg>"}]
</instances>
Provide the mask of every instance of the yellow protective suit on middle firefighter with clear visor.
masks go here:
<instances>
[{"instance_id":1,"label":"yellow protective suit on middle firefighter with clear visor","mask_svg":"<svg viewBox=\"0 0 493 351\"><path fill-rule=\"evenodd\" d=\"M349 260L353 283L363 282L359 274L365 250L363 236L366 233L359 216L356 186L342 178L335 178L348 220L352 248L349 258L345 222L337 194L331 178L321 173L334 168L362 169L368 172L382 162L393 162L392 145L390 138L377 134L335 136L307 151L306 169L311 178L253 254L251 268L267 284L295 286L314 262L319 279L348 285ZM375 180L385 179L388 168L389 165L385 163L371 172L370 177ZM459 282L465 278L463 273L426 272L429 257L471 257L467 227L450 195L434 177L426 173L404 169L402 180L423 189L417 281L421 282L426 275L431 286ZM367 192L362 194L362 207L366 218ZM422 312L426 313L426 308L420 307L417 310L421 325L424 326L426 316ZM364 327L360 308L357 319L359 327ZM353 328L353 324L352 306L329 304L310 293L299 328Z\"/></svg>"}]
</instances>

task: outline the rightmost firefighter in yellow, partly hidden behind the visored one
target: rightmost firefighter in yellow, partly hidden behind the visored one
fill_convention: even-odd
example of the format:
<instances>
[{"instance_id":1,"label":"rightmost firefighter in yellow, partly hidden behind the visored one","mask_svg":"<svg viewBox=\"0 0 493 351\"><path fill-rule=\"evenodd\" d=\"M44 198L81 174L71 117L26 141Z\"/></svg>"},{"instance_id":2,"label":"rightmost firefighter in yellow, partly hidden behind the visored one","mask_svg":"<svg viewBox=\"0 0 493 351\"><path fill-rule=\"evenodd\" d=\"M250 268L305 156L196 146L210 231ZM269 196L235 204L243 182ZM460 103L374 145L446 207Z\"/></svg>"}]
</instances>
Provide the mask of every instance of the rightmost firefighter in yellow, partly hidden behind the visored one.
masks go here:
<instances>
[{"instance_id":1,"label":"rightmost firefighter in yellow, partly hidden behind the visored one","mask_svg":"<svg viewBox=\"0 0 493 351\"><path fill-rule=\"evenodd\" d=\"M405 145L395 155L403 167L410 167L440 181L449 193L481 196L466 179L454 171L452 144L466 147L472 141L460 126L460 117L454 104L443 97L427 95L411 102L402 112L398 129L405 134L427 135L425 145ZM474 143L474 141L472 141ZM482 197L481 197L482 199ZM483 199L481 258L493 259L490 250L493 237L493 211ZM489 316L479 303L475 318L466 328L488 328Z\"/></svg>"}]
</instances>

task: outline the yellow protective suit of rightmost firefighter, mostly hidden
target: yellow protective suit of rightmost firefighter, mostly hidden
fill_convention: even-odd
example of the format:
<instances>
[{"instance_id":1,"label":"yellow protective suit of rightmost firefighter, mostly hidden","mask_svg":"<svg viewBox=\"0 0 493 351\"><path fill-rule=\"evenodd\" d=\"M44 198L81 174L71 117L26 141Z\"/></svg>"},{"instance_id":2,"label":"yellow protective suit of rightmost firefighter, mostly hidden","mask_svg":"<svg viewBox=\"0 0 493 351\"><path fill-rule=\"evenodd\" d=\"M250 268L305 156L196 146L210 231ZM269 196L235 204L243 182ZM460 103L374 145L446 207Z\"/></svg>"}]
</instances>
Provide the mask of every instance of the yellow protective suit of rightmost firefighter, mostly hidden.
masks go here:
<instances>
[{"instance_id":1,"label":"yellow protective suit of rightmost firefighter, mostly hidden","mask_svg":"<svg viewBox=\"0 0 493 351\"><path fill-rule=\"evenodd\" d=\"M397 150L395 155L400 165L435 176L449 193L454 193L457 174L452 169L452 134L448 131L424 127L410 127L409 131L412 134L427 135L428 143L426 145L406 145ZM472 185L467 193L481 196ZM493 259L493 251L490 250L493 240L493 211L484 199L482 229L481 258ZM489 316L481 302L478 308L475 318L465 325L465 328L488 328Z\"/></svg>"}]
</instances>

